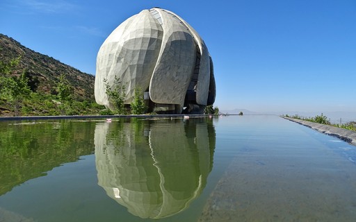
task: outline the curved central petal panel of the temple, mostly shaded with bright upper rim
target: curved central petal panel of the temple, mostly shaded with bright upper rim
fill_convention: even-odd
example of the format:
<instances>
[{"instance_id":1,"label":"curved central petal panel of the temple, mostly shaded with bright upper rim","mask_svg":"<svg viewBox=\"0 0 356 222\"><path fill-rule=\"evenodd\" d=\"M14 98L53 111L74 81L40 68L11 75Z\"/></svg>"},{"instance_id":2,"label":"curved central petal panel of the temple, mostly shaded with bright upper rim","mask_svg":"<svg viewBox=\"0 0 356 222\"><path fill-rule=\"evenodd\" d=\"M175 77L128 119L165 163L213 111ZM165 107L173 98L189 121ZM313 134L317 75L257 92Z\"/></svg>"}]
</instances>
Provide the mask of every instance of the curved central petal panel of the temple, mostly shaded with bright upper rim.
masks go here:
<instances>
[{"instance_id":1,"label":"curved central petal panel of the temple, mostly shaded with bright upper rim","mask_svg":"<svg viewBox=\"0 0 356 222\"><path fill-rule=\"evenodd\" d=\"M149 84L154 103L184 105L193 74L196 49L191 33L175 15L156 9L163 22L161 52Z\"/></svg>"}]
</instances>

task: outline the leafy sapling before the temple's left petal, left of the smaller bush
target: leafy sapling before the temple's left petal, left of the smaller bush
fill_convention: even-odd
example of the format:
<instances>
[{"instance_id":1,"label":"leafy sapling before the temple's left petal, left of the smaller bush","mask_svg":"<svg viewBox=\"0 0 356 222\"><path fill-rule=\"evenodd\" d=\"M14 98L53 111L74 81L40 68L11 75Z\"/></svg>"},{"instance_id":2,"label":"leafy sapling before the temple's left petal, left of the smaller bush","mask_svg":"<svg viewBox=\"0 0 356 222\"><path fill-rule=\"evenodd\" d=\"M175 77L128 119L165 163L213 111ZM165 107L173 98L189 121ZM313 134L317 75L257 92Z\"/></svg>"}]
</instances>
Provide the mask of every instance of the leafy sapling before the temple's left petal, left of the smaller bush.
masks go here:
<instances>
[{"instance_id":1,"label":"leafy sapling before the temple's left petal, left of the smaller bush","mask_svg":"<svg viewBox=\"0 0 356 222\"><path fill-rule=\"evenodd\" d=\"M107 83L107 80L104 79L106 87L106 95L108 96L108 101L113 104L114 112L118 114L125 114L126 110L124 107L125 100L125 89L126 87L121 84L120 78L115 77L113 86L110 86Z\"/></svg>"}]
</instances>

